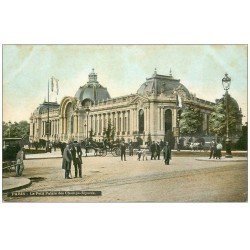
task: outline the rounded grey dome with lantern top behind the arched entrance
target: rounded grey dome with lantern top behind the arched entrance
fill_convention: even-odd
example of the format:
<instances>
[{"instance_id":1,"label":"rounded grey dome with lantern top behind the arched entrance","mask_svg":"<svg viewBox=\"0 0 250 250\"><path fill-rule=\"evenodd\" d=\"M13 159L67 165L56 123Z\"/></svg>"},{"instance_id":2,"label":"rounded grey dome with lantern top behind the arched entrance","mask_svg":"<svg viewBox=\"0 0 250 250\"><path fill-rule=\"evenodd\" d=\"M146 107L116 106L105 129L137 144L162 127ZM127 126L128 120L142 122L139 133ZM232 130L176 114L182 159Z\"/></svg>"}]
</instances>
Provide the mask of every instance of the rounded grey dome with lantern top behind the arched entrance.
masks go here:
<instances>
[{"instance_id":1,"label":"rounded grey dome with lantern top behind the arched entrance","mask_svg":"<svg viewBox=\"0 0 250 250\"><path fill-rule=\"evenodd\" d=\"M110 99L107 88L104 88L97 81L97 74L94 72L94 69L89 74L89 81L87 82L87 84L81 86L78 89L75 97L81 102L86 99L93 102Z\"/></svg>"}]
</instances>

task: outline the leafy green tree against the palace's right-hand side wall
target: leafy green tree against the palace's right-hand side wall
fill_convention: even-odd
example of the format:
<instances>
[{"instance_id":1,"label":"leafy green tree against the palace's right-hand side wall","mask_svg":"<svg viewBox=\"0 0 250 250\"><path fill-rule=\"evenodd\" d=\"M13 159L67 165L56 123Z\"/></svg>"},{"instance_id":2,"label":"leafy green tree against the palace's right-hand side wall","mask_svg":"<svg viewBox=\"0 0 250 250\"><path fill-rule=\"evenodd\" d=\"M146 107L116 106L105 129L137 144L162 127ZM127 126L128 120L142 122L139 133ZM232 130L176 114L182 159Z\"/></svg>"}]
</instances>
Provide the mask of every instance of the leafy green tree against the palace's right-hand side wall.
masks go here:
<instances>
[{"instance_id":1,"label":"leafy green tree against the palace's right-hand side wall","mask_svg":"<svg viewBox=\"0 0 250 250\"><path fill-rule=\"evenodd\" d=\"M203 116L198 108L186 107L180 116L180 133L182 135L197 135L202 133Z\"/></svg>"}]
</instances>

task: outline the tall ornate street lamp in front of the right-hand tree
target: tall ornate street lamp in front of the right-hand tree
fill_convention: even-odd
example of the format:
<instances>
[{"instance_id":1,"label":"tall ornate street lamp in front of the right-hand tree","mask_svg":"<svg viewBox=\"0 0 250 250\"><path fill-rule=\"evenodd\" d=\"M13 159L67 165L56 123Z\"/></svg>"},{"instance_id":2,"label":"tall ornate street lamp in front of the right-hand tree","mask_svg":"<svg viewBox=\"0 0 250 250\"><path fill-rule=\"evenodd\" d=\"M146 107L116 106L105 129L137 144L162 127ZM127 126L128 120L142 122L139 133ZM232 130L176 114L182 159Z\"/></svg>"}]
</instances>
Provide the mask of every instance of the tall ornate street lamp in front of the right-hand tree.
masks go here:
<instances>
[{"instance_id":1,"label":"tall ornate street lamp in front of the right-hand tree","mask_svg":"<svg viewBox=\"0 0 250 250\"><path fill-rule=\"evenodd\" d=\"M226 122L227 122L227 138L226 138L226 158L232 158L232 152L231 152L231 140L229 138L229 126L228 126L228 120L229 120L229 112L228 112L228 90L230 89L231 84L231 78L228 76L228 74L225 74L225 76L222 78L222 86L224 88L225 97L226 97Z\"/></svg>"}]
</instances>

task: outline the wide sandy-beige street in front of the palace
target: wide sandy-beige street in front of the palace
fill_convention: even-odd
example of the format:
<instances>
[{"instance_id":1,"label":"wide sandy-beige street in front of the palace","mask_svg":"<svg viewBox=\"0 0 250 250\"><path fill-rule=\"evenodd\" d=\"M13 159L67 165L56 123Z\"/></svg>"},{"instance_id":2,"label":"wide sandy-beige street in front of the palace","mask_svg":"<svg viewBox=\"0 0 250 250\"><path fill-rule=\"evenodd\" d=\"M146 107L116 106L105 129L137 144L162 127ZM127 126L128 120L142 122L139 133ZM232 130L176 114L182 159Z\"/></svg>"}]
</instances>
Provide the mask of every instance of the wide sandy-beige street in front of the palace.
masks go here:
<instances>
[{"instance_id":1,"label":"wide sandy-beige street in front of the palace","mask_svg":"<svg viewBox=\"0 0 250 250\"><path fill-rule=\"evenodd\" d=\"M247 161L197 161L175 157L138 161L136 156L83 157L83 178L64 179L62 159L25 161L22 191L102 191L102 196L7 197L7 202L245 202ZM71 169L74 177L74 167ZM11 174L14 176L14 173Z\"/></svg>"}]
</instances>

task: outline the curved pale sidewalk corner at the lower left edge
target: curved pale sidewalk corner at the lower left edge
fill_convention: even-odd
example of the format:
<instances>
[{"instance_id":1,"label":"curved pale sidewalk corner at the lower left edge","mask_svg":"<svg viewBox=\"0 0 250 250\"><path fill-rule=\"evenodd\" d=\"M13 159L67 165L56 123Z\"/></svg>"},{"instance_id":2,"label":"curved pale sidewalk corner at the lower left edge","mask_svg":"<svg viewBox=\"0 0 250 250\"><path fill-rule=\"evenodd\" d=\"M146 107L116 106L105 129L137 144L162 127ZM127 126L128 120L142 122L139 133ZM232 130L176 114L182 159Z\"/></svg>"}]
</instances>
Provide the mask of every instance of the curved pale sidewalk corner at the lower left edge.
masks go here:
<instances>
[{"instance_id":1,"label":"curved pale sidewalk corner at the lower left edge","mask_svg":"<svg viewBox=\"0 0 250 250\"><path fill-rule=\"evenodd\" d=\"M3 193L16 191L31 185L31 180L24 177L3 178Z\"/></svg>"}]
</instances>

